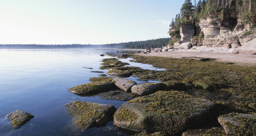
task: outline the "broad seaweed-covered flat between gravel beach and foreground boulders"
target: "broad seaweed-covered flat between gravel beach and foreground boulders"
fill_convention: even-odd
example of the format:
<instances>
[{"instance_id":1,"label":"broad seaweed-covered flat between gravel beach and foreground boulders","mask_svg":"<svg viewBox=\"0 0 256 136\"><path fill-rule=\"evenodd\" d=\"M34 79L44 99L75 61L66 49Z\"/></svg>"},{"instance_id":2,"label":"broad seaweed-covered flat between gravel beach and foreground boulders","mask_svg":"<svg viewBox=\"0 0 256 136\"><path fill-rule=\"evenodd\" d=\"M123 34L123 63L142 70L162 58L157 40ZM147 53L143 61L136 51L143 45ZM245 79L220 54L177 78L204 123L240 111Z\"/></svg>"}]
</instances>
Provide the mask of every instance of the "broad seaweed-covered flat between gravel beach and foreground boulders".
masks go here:
<instances>
[{"instance_id":1,"label":"broad seaweed-covered flat between gravel beach and foreground boulders","mask_svg":"<svg viewBox=\"0 0 256 136\"><path fill-rule=\"evenodd\" d=\"M226 113L254 113L255 109L248 106L256 102L256 67L237 66L219 63L213 60L203 62L188 59L167 57L144 57L132 55L138 63L151 64L158 71L156 80L161 82L179 81L188 89L206 89L204 97L219 100L226 104ZM216 93L215 93L216 92ZM210 93L210 94L209 94ZM228 95L227 95L228 94ZM194 94L193 94L194 95ZM206 96L207 95L207 96ZM222 113L224 114L224 113Z\"/></svg>"}]
</instances>

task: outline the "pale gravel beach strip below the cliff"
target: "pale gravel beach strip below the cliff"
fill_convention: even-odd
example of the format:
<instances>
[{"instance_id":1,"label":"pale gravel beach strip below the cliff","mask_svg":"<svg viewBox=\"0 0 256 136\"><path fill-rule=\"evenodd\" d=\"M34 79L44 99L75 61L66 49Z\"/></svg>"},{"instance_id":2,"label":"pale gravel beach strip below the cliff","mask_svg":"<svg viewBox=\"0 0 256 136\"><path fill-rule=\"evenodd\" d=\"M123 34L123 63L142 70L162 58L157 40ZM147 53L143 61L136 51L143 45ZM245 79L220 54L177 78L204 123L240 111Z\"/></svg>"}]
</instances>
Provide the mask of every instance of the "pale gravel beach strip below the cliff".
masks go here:
<instances>
[{"instance_id":1,"label":"pale gravel beach strip below the cliff","mask_svg":"<svg viewBox=\"0 0 256 136\"><path fill-rule=\"evenodd\" d=\"M205 57L215 58L218 62L234 63L241 66L256 66L256 54L231 54L231 49L225 49L222 47L207 48L196 47L192 49L179 49L176 51L155 52L148 54L139 54L141 56L159 56L159 57Z\"/></svg>"}]
</instances>

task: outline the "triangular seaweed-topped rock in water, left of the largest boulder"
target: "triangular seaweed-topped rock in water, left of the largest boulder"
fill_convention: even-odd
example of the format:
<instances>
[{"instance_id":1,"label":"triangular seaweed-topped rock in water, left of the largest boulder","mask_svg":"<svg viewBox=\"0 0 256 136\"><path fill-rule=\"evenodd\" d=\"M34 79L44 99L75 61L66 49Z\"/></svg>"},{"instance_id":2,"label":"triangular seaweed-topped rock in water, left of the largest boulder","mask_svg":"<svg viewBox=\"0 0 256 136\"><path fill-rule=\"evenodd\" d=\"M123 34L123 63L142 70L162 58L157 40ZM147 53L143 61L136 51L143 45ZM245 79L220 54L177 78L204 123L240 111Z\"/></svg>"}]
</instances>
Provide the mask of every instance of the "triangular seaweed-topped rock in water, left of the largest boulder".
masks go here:
<instances>
[{"instance_id":1,"label":"triangular seaweed-topped rock in water, left of the largest boulder","mask_svg":"<svg viewBox=\"0 0 256 136\"><path fill-rule=\"evenodd\" d=\"M65 105L72 116L73 124L87 130L95 126L103 126L113 119L116 108L112 105L75 101Z\"/></svg>"}]
</instances>

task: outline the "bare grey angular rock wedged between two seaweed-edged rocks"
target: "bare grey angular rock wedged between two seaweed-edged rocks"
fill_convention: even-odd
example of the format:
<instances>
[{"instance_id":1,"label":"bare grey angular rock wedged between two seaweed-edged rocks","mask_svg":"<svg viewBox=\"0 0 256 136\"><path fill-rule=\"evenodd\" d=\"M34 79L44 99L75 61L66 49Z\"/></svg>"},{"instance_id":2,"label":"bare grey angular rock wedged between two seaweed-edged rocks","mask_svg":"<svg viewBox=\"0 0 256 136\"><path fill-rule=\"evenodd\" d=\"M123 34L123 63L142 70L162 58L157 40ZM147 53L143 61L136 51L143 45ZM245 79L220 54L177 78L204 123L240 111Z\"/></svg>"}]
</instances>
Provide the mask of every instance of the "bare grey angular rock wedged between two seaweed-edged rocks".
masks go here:
<instances>
[{"instance_id":1,"label":"bare grey angular rock wedged between two seaweed-edged rocks","mask_svg":"<svg viewBox=\"0 0 256 136\"><path fill-rule=\"evenodd\" d=\"M113 81L115 82L115 85L124 90L124 91L130 91L131 87L133 85L136 85L137 83L134 82L133 80L129 80L129 79L125 79L125 78L119 78L119 77L115 77L113 78Z\"/></svg>"}]
</instances>

